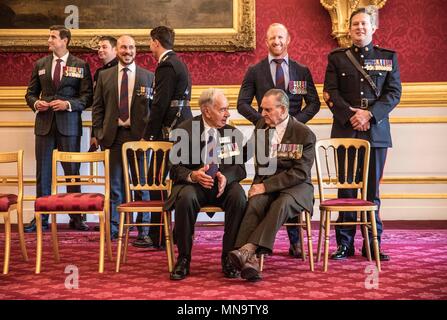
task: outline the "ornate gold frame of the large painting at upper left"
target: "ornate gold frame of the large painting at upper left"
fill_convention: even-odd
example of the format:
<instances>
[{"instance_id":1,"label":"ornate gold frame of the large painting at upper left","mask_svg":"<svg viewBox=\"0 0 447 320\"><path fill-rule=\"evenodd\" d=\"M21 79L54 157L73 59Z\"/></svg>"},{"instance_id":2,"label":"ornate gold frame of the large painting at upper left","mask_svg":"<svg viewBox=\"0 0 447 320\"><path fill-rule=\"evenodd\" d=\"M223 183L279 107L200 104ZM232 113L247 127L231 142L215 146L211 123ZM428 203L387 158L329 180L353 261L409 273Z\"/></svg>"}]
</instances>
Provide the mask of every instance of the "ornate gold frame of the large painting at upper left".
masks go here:
<instances>
[{"instance_id":1,"label":"ornate gold frame of the large painting at upper left","mask_svg":"<svg viewBox=\"0 0 447 320\"><path fill-rule=\"evenodd\" d=\"M256 48L255 0L233 0L231 28L175 29L176 51L245 51ZM99 35L130 34L140 51L149 51L149 28L72 29L70 49L90 51ZM48 29L0 29L0 51L48 51Z\"/></svg>"}]
</instances>

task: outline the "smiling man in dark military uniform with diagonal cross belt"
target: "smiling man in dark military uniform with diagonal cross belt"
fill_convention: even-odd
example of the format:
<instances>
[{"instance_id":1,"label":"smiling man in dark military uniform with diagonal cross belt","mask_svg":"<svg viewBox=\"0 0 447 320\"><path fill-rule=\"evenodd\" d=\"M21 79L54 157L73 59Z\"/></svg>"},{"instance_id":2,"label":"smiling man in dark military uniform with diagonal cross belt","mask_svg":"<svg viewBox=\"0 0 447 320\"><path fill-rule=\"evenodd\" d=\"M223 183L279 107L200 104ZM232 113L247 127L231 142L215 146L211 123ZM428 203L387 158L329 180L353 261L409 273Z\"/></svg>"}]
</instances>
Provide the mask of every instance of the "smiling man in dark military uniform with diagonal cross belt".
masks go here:
<instances>
[{"instance_id":1,"label":"smiling man in dark military uniform with diagonal cross belt","mask_svg":"<svg viewBox=\"0 0 447 320\"><path fill-rule=\"evenodd\" d=\"M359 8L351 14L349 23L353 45L329 54L324 100L334 115L331 137L359 138L371 143L367 200L380 208L380 179L387 150L391 147L389 113L399 103L402 92L399 65L394 51L372 44L376 30L373 12ZM352 163L353 159L349 161ZM357 190L340 190L338 196L357 198ZM356 219L356 212L344 212L338 221ZM383 227L379 211L376 221L380 245ZM335 230L338 248L331 258L341 260L353 256L355 227L336 226ZM369 239L372 247L371 235ZM365 248L362 254L366 256ZM389 256L380 252L380 259L386 261Z\"/></svg>"}]
</instances>

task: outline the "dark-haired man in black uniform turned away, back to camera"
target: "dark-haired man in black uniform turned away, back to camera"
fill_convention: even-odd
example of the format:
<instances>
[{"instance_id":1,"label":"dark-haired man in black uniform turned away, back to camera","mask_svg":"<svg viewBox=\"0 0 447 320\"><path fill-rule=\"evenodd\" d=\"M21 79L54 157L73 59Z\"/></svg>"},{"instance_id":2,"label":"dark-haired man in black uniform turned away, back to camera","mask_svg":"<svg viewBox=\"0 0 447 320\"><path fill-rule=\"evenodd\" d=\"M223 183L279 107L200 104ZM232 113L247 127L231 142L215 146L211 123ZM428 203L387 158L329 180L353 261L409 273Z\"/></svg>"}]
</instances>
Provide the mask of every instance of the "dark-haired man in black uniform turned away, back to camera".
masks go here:
<instances>
[{"instance_id":1,"label":"dark-haired man in black uniform turned away, back to camera","mask_svg":"<svg viewBox=\"0 0 447 320\"><path fill-rule=\"evenodd\" d=\"M191 100L191 77L188 67L172 51L174 47L174 30L159 26L151 30L149 46L154 58L158 61L155 69L155 81L151 114L144 129L145 140L163 140L168 138L168 131L176 128L182 121L191 119L189 105ZM153 200L158 198L152 195ZM161 215L153 213L152 223L160 223ZM152 239L160 237L160 228L151 227ZM159 243L163 246L163 243Z\"/></svg>"}]
</instances>

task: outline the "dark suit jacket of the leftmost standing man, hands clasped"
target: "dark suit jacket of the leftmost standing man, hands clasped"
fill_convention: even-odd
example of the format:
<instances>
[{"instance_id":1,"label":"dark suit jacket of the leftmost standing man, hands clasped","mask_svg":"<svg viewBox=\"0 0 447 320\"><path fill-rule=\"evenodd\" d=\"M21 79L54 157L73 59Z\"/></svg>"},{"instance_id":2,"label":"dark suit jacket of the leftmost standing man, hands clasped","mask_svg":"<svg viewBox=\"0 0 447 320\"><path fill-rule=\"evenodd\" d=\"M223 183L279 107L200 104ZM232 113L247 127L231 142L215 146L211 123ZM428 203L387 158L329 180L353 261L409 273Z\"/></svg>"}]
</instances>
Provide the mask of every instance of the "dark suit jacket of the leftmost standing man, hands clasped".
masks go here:
<instances>
[{"instance_id":1,"label":"dark suit jacket of the leftmost standing man, hands clasped","mask_svg":"<svg viewBox=\"0 0 447 320\"><path fill-rule=\"evenodd\" d=\"M61 99L70 102L72 111L54 112L52 109L39 111L36 114L34 133L47 135L50 132L53 118L55 118L59 133L65 136L81 136L81 112L91 105L93 98L92 75L89 65L84 60L69 54L66 66L82 69L82 75L75 77L62 72L60 85L58 88L54 88L51 74L52 60L53 55L51 54L35 63L25 95L26 103L36 112L34 103L37 100L50 102Z\"/></svg>"}]
</instances>

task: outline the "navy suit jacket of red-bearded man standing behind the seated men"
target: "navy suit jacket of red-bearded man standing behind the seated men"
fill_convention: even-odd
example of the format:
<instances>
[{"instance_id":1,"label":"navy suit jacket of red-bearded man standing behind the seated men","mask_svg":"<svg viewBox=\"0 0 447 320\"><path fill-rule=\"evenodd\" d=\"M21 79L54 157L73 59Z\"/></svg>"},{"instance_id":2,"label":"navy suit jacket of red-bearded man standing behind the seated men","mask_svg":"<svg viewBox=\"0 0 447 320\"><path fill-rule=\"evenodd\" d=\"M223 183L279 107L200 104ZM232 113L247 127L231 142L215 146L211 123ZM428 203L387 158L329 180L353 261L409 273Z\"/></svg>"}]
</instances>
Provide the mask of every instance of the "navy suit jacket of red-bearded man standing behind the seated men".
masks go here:
<instances>
[{"instance_id":1,"label":"navy suit jacket of red-bearded man standing behind the seated men","mask_svg":"<svg viewBox=\"0 0 447 320\"><path fill-rule=\"evenodd\" d=\"M302 123L312 119L320 110L320 99L312 79L310 70L292 59L289 59L289 81L306 81L307 94L292 94L287 86L286 93L290 100L289 113ZM261 118L261 101L264 94L275 88L268 58L248 68L242 81L237 101L237 110L241 115L256 124ZM252 106L253 97L256 97L258 111ZM303 99L306 107L302 109Z\"/></svg>"}]
</instances>

